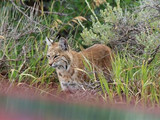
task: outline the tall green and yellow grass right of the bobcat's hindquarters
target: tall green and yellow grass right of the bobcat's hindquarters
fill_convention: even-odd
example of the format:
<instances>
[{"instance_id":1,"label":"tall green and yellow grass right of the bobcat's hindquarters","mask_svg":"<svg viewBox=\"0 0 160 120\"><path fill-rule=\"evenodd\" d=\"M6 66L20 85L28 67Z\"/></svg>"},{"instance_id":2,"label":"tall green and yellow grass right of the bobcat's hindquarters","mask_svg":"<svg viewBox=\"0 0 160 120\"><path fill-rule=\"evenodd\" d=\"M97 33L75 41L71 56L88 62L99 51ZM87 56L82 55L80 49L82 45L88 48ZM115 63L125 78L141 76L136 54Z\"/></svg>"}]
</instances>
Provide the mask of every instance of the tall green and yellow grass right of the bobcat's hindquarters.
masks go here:
<instances>
[{"instance_id":1,"label":"tall green and yellow grass right of the bobcat's hindquarters","mask_svg":"<svg viewBox=\"0 0 160 120\"><path fill-rule=\"evenodd\" d=\"M117 54L112 63L113 83L109 85L111 89L108 90L108 83L100 78L102 88L105 88L109 96L115 94L121 99L125 98L128 103L135 100L136 104L159 104L160 79L157 66L160 65L160 62L158 58L150 65L145 63L140 65L139 60L135 61L123 55ZM113 98L112 96L111 101L114 100Z\"/></svg>"}]
</instances>

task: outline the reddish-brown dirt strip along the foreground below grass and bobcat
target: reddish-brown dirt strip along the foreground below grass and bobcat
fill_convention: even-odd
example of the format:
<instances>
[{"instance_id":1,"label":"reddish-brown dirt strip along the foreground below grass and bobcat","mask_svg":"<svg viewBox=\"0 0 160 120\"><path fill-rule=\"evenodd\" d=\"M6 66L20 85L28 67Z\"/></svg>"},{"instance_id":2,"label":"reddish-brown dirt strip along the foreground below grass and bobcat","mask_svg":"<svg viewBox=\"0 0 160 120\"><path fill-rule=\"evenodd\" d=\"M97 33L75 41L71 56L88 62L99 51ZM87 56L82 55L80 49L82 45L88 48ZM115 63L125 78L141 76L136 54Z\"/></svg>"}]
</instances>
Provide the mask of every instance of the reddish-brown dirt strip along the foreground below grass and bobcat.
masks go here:
<instances>
[{"instance_id":1,"label":"reddish-brown dirt strip along the foreground below grass and bobcat","mask_svg":"<svg viewBox=\"0 0 160 120\"><path fill-rule=\"evenodd\" d=\"M9 82L4 77L0 76L0 95L14 96L14 97L22 97L22 98L34 98L34 99L45 99L45 100L53 100L53 101L64 101L64 102L74 102L74 103L82 103L82 104L97 104L97 105L109 105L109 106L130 106L130 107L138 107L144 108L143 101L139 103L135 103L135 98L133 98L128 105L125 100L125 97L119 98L118 96L114 96L114 100L110 103L109 98L104 100L104 98L93 91L77 91L76 93L67 93L60 91L60 87L58 83L54 83L51 85L29 85L25 82L16 83ZM106 97L107 98L107 97ZM148 104L146 107L148 109L153 108L151 104ZM155 105L155 108L159 108Z\"/></svg>"}]
</instances>

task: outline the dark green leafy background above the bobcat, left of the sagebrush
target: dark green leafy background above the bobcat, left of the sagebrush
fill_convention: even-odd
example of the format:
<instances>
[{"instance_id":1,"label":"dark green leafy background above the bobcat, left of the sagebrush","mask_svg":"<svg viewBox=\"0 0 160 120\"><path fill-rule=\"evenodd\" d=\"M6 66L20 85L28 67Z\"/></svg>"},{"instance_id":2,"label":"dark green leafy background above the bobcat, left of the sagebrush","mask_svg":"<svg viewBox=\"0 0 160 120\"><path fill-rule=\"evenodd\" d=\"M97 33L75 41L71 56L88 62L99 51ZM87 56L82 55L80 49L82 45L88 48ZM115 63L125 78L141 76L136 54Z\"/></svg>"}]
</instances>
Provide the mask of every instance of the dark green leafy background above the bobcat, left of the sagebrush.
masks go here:
<instances>
[{"instance_id":1,"label":"dark green leafy background above the bobcat, left of the sagebrush","mask_svg":"<svg viewBox=\"0 0 160 120\"><path fill-rule=\"evenodd\" d=\"M23 1L24 3L28 3L33 7L36 0ZM40 8L42 10L41 15L44 15L46 11L49 11L51 13L49 14L49 17L53 22L52 24L55 26L63 25L61 29L58 28L58 35L63 37L73 37L77 44L82 43L79 34L82 31L82 28L79 27L79 23L74 18L77 18L78 16L84 17L85 20L83 20L83 24L89 27L91 25L91 20L89 16L92 13L90 8L95 11L97 16L99 16L99 10L105 8L104 3L106 2L106 0L43 0L43 2L42 0L37 1L39 1L39 3L36 3L40 5ZM88 8L86 2L88 2L90 8ZM109 0L107 2L111 3L112 6L115 6L116 3L115 0ZM123 0L123 2L121 3L121 6L123 6L124 8L125 6L129 6L134 2L131 0ZM28 7L26 8L28 9Z\"/></svg>"}]
</instances>

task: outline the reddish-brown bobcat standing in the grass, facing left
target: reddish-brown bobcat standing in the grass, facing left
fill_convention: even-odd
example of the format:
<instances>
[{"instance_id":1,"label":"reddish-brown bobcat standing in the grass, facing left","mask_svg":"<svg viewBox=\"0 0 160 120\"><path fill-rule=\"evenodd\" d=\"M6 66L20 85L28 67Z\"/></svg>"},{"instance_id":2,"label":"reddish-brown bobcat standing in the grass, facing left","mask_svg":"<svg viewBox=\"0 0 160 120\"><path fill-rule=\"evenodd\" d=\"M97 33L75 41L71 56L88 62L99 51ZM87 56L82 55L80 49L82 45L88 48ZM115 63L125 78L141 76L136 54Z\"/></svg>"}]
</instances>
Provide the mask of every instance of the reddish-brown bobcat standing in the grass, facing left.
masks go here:
<instances>
[{"instance_id":1,"label":"reddish-brown bobcat standing in the grass, facing left","mask_svg":"<svg viewBox=\"0 0 160 120\"><path fill-rule=\"evenodd\" d=\"M101 70L109 79L111 67L111 49L102 44L95 44L88 49L76 52L70 49L63 37L59 42L46 38L48 45L47 57L49 65L56 68L62 90L72 91L83 88L83 82L89 80L84 72L84 62L90 61L94 71Z\"/></svg>"}]
</instances>

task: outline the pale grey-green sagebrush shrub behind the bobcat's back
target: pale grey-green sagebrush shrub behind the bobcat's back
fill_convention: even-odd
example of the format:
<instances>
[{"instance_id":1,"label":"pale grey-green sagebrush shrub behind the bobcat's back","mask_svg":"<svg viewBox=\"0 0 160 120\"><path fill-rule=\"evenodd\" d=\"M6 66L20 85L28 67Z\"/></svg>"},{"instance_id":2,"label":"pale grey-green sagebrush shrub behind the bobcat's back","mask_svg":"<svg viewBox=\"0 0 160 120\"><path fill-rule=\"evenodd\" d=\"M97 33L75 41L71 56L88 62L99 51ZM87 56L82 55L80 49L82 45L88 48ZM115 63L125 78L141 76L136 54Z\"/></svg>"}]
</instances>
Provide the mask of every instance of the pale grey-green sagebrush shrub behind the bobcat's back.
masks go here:
<instances>
[{"instance_id":1,"label":"pale grey-green sagebrush shrub behind the bobcat's back","mask_svg":"<svg viewBox=\"0 0 160 120\"><path fill-rule=\"evenodd\" d=\"M155 46L159 43L159 9L158 3L151 4L152 1L142 2L132 12L120 7L120 1L116 7L111 7L108 3L106 9L101 10L101 21L95 16L92 18L90 29L84 28L81 36L84 43L91 45L93 43L105 43L117 51L128 49L130 55L153 52ZM152 6L148 6L152 5ZM154 7L157 6L157 9ZM126 48L127 47L127 48ZM133 54L132 54L133 55Z\"/></svg>"}]
</instances>

